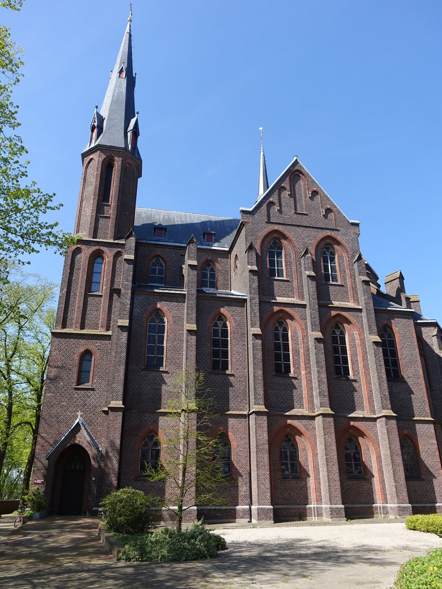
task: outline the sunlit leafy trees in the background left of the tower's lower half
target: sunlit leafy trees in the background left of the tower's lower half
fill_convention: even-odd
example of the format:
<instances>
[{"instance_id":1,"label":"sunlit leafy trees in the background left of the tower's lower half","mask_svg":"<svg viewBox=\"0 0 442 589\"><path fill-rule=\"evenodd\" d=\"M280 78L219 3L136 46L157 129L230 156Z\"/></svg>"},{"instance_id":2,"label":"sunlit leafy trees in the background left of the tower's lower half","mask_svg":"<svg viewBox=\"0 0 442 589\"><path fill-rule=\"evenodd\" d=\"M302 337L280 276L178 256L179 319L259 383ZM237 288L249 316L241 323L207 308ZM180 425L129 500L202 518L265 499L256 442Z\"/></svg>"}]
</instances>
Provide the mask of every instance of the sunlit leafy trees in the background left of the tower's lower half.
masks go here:
<instances>
[{"instance_id":1,"label":"sunlit leafy trees in the background left of the tower's lower half","mask_svg":"<svg viewBox=\"0 0 442 589\"><path fill-rule=\"evenodd\" d=\"M22 479L29 488L55 319L54 285L10 273L0 307L0 495Z\"/></svg>"}]
</instances>

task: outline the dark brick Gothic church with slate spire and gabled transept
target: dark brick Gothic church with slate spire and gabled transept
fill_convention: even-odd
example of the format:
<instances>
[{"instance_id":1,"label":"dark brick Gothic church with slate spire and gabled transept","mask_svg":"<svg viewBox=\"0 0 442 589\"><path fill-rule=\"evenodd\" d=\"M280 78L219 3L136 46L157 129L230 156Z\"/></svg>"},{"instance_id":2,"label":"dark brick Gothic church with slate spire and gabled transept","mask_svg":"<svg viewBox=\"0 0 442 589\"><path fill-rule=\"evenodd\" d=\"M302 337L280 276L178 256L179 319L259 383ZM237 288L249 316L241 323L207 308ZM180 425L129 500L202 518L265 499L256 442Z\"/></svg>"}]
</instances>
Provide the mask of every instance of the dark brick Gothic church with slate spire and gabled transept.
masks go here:
<instances>
[{"instance_id":1,"label":"dark brick Gothic church with slate spire and gabled transept","mask_svg":"<svg viewBox=\"0 0 442 589\"><path fill-rule=\"evenodd\" d=\"M192 517L442 512L440 326L400 271L381 290L359 222L297 157L269 186L261 149L238 219L136 207L130 23L81 154L33 475L50 511L167 492L145 465L164 459L187 365L215 398L229 478L226 505Z\"/></svg>"}]
</instances>

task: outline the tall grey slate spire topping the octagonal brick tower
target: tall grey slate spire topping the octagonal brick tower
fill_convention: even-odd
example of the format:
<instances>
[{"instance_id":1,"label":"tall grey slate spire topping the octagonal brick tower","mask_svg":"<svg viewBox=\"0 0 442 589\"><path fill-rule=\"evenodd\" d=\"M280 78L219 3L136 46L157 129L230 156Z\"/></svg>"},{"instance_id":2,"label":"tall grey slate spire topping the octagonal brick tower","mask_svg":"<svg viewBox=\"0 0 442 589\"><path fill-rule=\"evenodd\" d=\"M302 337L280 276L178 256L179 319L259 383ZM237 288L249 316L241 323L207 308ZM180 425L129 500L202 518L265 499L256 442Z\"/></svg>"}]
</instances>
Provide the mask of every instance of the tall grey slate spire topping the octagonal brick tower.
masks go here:
<instances>
[{"instance_id":1,"label":"tall grey slate spire topping the octagonal brick tower","mask_svg":"<svg viewBox=\"0 0 442 589\"><path fill-rule=\"evenodd\" d=\"M139 134L138 120L135 113L135 76L132 69L131 16L132 5L117 61L111 71L103 105L101 105L100 111L95 110L91 123L91 140L84 151L87 151L93 145L122 147L131 151L141 160L137 141L131 140L130 136L131 133L136 133L136 137ZM97 114L98 121L95 121ZM100 120L103 125L102 128L100 128ZM95 131L95 134L94 125L98 131L98 133Z\"/></svg>"}]
</instances>

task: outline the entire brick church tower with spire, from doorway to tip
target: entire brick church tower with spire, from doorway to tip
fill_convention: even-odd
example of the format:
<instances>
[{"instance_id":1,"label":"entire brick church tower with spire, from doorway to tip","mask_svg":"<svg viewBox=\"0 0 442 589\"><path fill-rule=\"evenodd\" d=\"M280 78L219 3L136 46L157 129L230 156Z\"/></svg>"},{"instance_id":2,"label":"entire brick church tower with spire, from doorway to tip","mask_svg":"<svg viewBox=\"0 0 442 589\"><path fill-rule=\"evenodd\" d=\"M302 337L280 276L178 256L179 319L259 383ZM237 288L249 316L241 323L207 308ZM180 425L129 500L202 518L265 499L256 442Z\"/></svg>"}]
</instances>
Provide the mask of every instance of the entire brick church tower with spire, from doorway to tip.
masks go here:
<instances>
[{"instance_id":1,"label":"entire brick church tower with spire, from doorway to tip","mask_svg":"<svg viewBox=\"0 0 442 589\"><path fill-rule=\"evenodd\" d=\"M52 332L34 477L60 514L92 511L118 484L141 176L131 20L81 154L78 241L65 258Z\"/></svg>"}]
</instances>

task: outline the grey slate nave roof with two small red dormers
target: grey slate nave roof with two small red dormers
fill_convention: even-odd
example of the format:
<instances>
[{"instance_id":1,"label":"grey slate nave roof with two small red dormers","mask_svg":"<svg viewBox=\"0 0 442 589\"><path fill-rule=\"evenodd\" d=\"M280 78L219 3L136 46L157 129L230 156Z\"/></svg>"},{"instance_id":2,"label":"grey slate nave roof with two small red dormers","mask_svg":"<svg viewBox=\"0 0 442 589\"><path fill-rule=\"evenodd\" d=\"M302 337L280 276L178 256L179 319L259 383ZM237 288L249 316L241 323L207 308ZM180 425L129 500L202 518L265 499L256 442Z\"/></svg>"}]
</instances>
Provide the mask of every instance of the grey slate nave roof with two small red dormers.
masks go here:
<instances>
[{"instance_id":1,"label":"grey slate nave roof with two small red dormers","mask_svg":"<svg viewBox=\"0 0 442 589\"><path fill-rule=\"evenodd\" d=\"M199 246L229 247L239 222L240 219L231 219L230 217L137 207L134 233L138 240L180 245L186 245L193 235ZM155 236L154 227L156 226L166 227L164 237ZM204 232L215 233L213 244L207 244L204 241Z\"/></svg>"}]
</instances>

